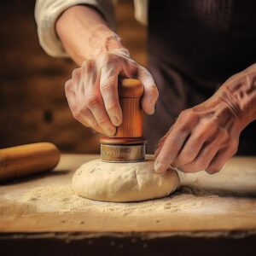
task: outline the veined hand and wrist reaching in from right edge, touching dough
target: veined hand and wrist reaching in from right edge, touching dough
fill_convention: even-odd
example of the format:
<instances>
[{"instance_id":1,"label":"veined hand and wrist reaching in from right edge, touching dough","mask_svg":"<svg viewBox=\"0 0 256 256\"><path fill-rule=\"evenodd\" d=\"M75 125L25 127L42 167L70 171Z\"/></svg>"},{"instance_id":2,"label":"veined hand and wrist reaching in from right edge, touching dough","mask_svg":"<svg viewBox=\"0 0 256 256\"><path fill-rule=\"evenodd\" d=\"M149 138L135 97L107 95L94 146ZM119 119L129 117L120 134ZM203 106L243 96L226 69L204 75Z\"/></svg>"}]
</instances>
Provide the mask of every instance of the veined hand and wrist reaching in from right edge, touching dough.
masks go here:
<instances>
[{"instance_id":1,"label":"veined hand and wrist reaching in from right edge, touching dough","mask_svg":"<svg viewBox=\"0 0 256 256\"><path fill-rule=\"evenodd\" d=\"M184 110L155 151L154 169L218 172L236 150L242 129L256 118L256 66L228 79L207 102Z\"/></svg>"}]
</instances>

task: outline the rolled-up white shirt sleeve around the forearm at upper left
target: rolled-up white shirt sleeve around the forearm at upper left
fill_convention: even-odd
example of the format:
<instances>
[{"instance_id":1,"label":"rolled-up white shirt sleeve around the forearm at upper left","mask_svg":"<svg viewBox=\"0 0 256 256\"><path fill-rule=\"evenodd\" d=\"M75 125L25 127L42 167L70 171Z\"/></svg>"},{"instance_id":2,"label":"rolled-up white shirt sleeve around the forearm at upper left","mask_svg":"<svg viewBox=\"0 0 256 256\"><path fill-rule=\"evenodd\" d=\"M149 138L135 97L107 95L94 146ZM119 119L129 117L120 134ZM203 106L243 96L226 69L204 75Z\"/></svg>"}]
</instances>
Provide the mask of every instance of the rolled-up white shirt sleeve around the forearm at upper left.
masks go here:
<instances>
[{"instance_id":1,"label":"rolled-up white shirt sleeve around the forearm at upper left","mask_svg":"<svg viewBox=\"0 0 256 256\"><path fill-rule=\"evenodd\" d=\"M93 6L107 20L108 26L114 27L113 0L37 0L35 19L38 25L38 38L40 45L48 55L67 56L56 35L55 21L66 9L78 4Z\"/></svg>"}]
</instances>

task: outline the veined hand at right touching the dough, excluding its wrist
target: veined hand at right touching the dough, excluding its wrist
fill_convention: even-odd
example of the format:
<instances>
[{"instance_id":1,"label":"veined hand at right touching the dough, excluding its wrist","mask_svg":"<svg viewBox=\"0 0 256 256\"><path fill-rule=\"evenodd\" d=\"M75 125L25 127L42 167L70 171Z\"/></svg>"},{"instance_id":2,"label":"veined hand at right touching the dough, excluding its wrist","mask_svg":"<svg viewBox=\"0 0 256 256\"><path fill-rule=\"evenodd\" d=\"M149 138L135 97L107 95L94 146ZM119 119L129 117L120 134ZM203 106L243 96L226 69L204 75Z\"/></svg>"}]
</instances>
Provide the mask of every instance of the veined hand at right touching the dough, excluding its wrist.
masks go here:
<instances>
[{"instance_id":1,"label":"veined hand at right touching the dough, excluding its wrist","mask_svg":"<svg viewBox=\"0 0 256 256\"><path fill-rule=\"evenodd\" d=\"M155 151L154 169L169 166L182 172L218 172L236 150L241 122L228 102L212 96L194 108L184 110Z\"/></svg>"}]
</instances>

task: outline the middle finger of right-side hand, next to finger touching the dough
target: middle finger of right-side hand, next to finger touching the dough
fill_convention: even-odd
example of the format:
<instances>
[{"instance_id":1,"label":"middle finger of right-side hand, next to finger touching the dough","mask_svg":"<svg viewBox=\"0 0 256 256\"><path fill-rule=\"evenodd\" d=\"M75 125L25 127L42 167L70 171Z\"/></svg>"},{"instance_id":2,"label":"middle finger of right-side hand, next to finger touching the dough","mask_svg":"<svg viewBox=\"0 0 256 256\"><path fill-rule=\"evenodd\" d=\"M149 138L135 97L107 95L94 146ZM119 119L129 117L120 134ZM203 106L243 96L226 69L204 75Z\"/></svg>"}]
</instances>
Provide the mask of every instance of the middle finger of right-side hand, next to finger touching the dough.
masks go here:
<instances>
[{"instance_id":1,"label":"middle finger of right-side hand, next to finger touching the dough","mask_svg":"<svg viewBox=\"0 0 256 256\"><path fill-rule=\"evenodd\" d=\"M195 160L203 144L216 134L216 127L213 125L198 125L184 145L177 158L172 162L172 166L179 168Z\"/></svg>"}]
</instances>

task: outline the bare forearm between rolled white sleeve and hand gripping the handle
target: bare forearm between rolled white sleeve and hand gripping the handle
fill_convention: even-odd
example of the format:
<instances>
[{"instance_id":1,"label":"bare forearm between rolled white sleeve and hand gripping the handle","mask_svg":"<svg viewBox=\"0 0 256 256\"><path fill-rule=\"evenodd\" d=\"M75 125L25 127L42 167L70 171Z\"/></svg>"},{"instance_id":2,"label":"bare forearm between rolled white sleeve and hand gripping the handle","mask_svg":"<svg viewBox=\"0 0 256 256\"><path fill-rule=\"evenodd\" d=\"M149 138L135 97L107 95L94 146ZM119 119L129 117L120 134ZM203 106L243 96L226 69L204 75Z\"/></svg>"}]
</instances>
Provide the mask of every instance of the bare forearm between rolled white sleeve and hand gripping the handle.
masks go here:
<instances>
[{"instance_id":1,"label":"bare forearm between rolled white sleeve and hand gripping the handle","mask_svg":"<svg viewBox=\"0 0 256 256\"><path fill-rule=\"evenodd\" d=\"M124 48L102 16L86 6L67 9L56 21L56 32L67 54L79 66L108 50Z\"/></svg>"}]
</instances>

